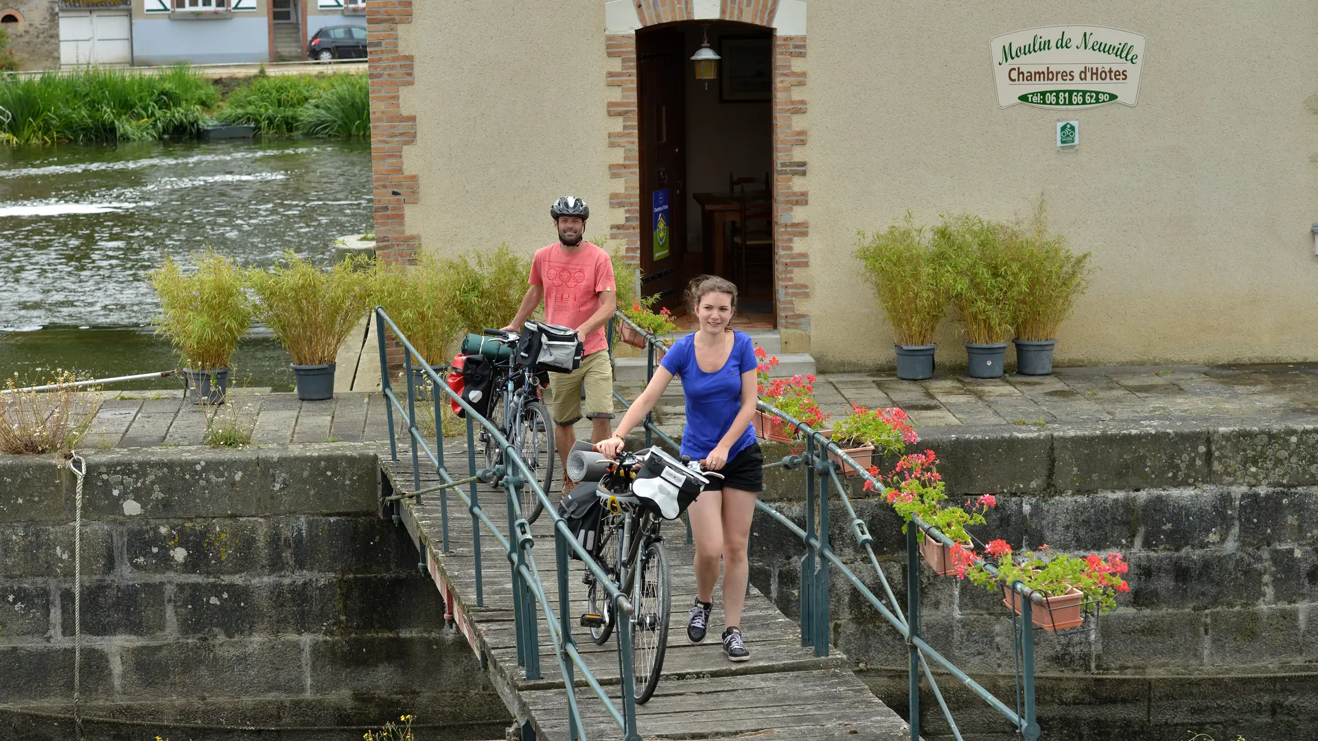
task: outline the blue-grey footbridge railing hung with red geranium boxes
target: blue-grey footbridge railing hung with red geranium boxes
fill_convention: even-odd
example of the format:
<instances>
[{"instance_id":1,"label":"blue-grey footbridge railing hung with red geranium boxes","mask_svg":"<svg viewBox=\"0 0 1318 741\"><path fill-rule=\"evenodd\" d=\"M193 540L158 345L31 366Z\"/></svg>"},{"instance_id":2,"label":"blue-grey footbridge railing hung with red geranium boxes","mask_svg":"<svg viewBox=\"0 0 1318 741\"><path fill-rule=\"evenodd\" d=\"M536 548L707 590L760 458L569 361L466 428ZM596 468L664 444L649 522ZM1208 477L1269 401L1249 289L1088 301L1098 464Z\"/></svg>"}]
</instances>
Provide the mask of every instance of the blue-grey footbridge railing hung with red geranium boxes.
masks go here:
<instances>
[{"instance_id":1,"label":"blue-grey footbridge railing hung with red geranium boxes","mask_svg":"<svg viewBox=\"0 0 1318 741\"><path fill-rule=\"evenodd\" d=\"M646 332L621 311L616 314L613 323L616 322L625 322L646 338L646 381L648 382L648 380L654 377L655 351L656 348L663 347L660 344L660 338ZM613 351L612 328L610 323L610 352ZM614 397L617 397L623 406L630 406L622 394L614 392ZM933 538L944 546L953 546L954 543L952 539L944 535L937 527L932 527L921 521L919 517L912 519L912 523L916 527L905 529L907 608L903 612L896 596L892 592L892 587L888 584L883 568L880 568L879 558L874 552L874 537L870 535L869 526L865 519L857 514L855 508L851 504L851 498L847 496L846 485L838 477L838 471L841 469L840 461L859 472L861 479L873 487L876 496L882 496L884 492L882 483L876 477L871 476L869 471L861 467L849 455L846 455L842 448L834 444L830 439L825 438L818 430L813 430L804 422L792 418L763 401L757 403L757 409L782 419L804 439L803 452L784 456L776 463L768 463L764 465L766 469L779 467L795 469L803 465L805 467L804 527L763 501L757 500L755 502L758 509L764 512L783 527L787 527L791 533L800 538L805 546L805 554L803 555L800 564L801 645L813 647L815 655L817 657L824 657L829 653L829 576L830 570L837 568L840 575L850 583L851 587L854 587L855 591L859 592L861 596L865 597L865 600L875 610L878 610L879 614L883 616L883 618L887 620L888 624L891 624L905 641L909 661L908 691L912 741L916 741L920 737L921 675L925 678L929 691L933 694L933 697L942 712L944 720L946 720L950 726L953 737L957 741L961 741L962 738L961 730L957 728L957 723L952 716L952 711L948 708L948 703L942 696L942 691L938 688L938 682L934 679L934 675L929 668L931 662L938 665L953 679L971 690L992 709L1006 717L1016 728L1016 732L1021 738L1025 738L1025 741L1037 741L1040 728L1035 717L1035 653L1031 613L1033 605L1044 604L1044 596L1025 587L1019 580L1004 587L1006 589L1024 596L1024 599L1019 600L1020 616L1012 613L1012 634L1016 659L1016 703L1015 708L1012 708L988 692L988 690L978 682L971 679L965 671L953 665L952 661L938 653L937 649L929 646L921 636L920 556L916 529L919 527L919 530L924 531L927 538ZM673 448L680 447L671 436L663 434L654 425L652 414L646 415L643 425L646 429L645 435L647 446L651 444L652 435L656 435L664 444ZM853 538L855 539L855 546L857 548L863 550L865 555L869 558L869 563L874 568L874 574L878 576L884 599L876 596L874 591L870 589L870 587L867 587L855 575L855 572L842 562L841 558L838 558L829 545L830 496L837 496L846 510L846 516L850 517L850 530ZM983 566L988 572L994 575L998 574L992 564Z\"/></svg>"}]
</instances>

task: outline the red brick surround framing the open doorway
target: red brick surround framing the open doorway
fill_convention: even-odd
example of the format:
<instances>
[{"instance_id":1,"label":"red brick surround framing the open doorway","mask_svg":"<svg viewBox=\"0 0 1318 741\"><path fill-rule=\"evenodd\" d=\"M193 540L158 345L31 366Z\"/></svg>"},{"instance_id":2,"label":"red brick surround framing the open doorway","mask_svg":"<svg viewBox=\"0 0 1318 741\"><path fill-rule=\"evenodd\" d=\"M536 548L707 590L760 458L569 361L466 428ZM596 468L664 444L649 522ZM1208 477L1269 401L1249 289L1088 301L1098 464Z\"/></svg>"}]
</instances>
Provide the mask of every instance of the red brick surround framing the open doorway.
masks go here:
<instances>
[{"instance_id":1,"label":"red brick surround framing the open doorway","mask_svg":"<svg viewBox=\"0 0 1318 741\"><path fill-rule=\"evenodd\" d=\"M643 26L693 20L693 0L635 0ZM720 20L768 28L778 13L778 0L721 0ZM610 116L622 117L622 131L609 133L609 146L621 149L609 165L609 177L618 185L609 193L609 206L623 210L621 224L609 225L609 239L626 244L627 262L641 264L641 157L637 133L637 38L631 34L605 36L605 51L618 59L606 82L619 87L621 100L608 104ZM774 38L774 285L776 320L780 330L811 330L811 318L803 314L797 298L811 295L804 281L809 254L799 251L797 239L809 233L807 222L797 222L793 207L809 203L809 193L796 178L805 175L805 129L793 125L793 116L804 113L805 98L800 88L805 73L792 69L792 61L805 57L804 36Z\"/></svg>"}]
</instances>

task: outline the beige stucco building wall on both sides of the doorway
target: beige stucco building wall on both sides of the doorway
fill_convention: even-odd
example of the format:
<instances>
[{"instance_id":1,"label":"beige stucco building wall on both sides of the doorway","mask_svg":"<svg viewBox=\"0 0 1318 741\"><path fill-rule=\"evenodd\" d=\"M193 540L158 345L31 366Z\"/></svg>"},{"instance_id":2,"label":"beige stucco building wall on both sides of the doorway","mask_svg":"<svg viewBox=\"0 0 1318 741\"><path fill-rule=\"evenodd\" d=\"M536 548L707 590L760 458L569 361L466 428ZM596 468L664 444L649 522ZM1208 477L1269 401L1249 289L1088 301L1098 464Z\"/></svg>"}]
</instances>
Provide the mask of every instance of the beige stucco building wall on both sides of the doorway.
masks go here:
<instances>
[{"instance_id":1,"label":"beige stucco building wall on both sides of the doorway","mask_svg":"<svg viewBox=\"0 0 1318 741\"><path fill-rule=\"evenodd\" d=\"M1267 13L1132 0L805 5L808 53L791 70L808 80L791 95L808 107L792 111L803 136L778 174L795 174L792 285L805 291L796 311L821 369L892 361L891 330L851 256L858 229L907 210L925 223L1011 219L1040 198L1098 268L1061 328L1060 363L1318 359L1313 1ZM1144 34L1139 104L999 108L990 38L1053 24ZM397 91L415 144L402 142L397 173L393 161L377 169L376 195L377 212L402 212L399 244L530 252L554 239L547 210L564 193L590 203L588 236L623 223L606 204L622 190L610 169L626 162L609 146L623 133L623 116L609 115L623 88L608 80L625 59L609 55L602 0L526 4L511 17L492 4L418 3L397 38L415 70ZM1077 150L1054 146L1064 119L1079 121ZM380 121L377 142L395 125ZM384 183L402 174L415 187L390 204ZM949 314L942 360L963 361L956 327Z\"/></svg>"}]
</instances>

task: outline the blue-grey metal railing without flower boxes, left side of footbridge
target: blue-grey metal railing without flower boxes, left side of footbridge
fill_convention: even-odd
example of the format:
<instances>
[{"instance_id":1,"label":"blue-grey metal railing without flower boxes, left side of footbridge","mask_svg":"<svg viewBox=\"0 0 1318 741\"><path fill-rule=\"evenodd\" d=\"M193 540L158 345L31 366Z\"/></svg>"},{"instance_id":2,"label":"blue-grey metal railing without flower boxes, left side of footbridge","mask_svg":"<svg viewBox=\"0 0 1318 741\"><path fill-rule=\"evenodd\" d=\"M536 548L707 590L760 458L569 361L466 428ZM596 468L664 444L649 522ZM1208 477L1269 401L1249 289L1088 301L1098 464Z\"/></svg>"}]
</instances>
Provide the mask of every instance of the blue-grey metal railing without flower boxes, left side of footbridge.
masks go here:
<instances>
[{"instance_id":1,"label":"blue-grey metal railing without flower boxes, left side of footbridge","mask_svg":"<svg viewBox=\"0 0 1318 741\"><path fill-rule=\"evenodd\" d=\"M398 326L394 324L393 319L389 318L382 307L376 307L374 316L376 336L378 338L380 345L381 392L386 398L385 406L389 417L390 458L393 460L398 460L398 440L394 426L395 410L406 419L407 438L411 442L414 488L410 494L391 497L395 502L394 506L401 508L401 498L405 496L415 497L416 504L420 505L423 496L438 493L442 548L447 552L449 550L448 493L452 492L456 494L461 500L463 505L467 506L467 512L472 518L471 546L476 563L476 604L478 607L485 605L485 592L481 574L482 529L494 538L507 556L513 579L513 620L517 634L517 663L523 668L526 679L540 679L539 621L543 616L546 626L548 628L550 639L554 642L554 654L558 661L559 670L563 672L563 684L568 705L569 737L573 740L585 738L585 729L581 723L581 712L575 690L575 671L580 670L581 679L604 704L608 713L622 730L623 738L626 741L641 741L641 734L637 730L635 679L631 667L631 632L614 632L617 634L618 666L621 674L619 682L622 684L622 697L616 703L609 697L609 694L604 690L598 678L596 678L594 674L587 667L585 659L577 650L576 642L572 639L571 604L568 592L569 552L575 554L576 558L585 563L585 567L594 575L596 583L608 591L609 600L613 603L614 614L631 614L633 605L627 601L622 592L618 591L617 585L613 584L612 579L609 579L604 570L600 568L600 564L596 563L594 559L592 559L581 545L577 543L571 535L563 518L558 514L558 502L551 501L539 487L535 476L531 475L526 464L521 460L521 458L518 458L517 448L509 444L507 439L502 435L502 432L500 432L498 427L496 427L489 419L477 414L471 405L448 388L444 380L435 373L426 359L422 357L402 331L398 330ZM398 394L394 393L393 382L389 374L389 356L386 347L390 335L403 348L403 378L407 384L406 406L403 405L403 401L399 400ZM434 389L430 400L435 406L434 448L431 448L431 439L423 435L416 425L416 403L418 401L426 400L418 400L416 378L413 373L414 368L424 373ZM463 409L467 419L467 467L469 475L460 480L455 480L452 475L449 475L444 460L443 406L449 403L449 401L456 402ZM503 451L503 463L493 469L477 469L476 467L477 427L490 435L498 443L500 450ZM424 456L430 465L434 467L442 484L424 489L422 488L422 456ZM506 493L506 530L502 530L500 525L496 523L494 518L492 518L485 510L476 487L477 483L494 481L498 481ZM467 487L467 492L463 490L464 487ZM523 516L519 505L523 487L530 487L536 498L540 500L540 504L544 506L544 514L542 514L542 517L550 517L554 521L555 570L558 571L559 587L558 613L555 613L555 607L551 604L544 592L540 581L540 571L531 552L534 538L531 537L530 523ZM539 610L536 608L539 608ZM522 730L523 738L534 738L534 733L527 734L527 732L532 729L526 721L522 721Z\"/></svg>"}]
</instances>

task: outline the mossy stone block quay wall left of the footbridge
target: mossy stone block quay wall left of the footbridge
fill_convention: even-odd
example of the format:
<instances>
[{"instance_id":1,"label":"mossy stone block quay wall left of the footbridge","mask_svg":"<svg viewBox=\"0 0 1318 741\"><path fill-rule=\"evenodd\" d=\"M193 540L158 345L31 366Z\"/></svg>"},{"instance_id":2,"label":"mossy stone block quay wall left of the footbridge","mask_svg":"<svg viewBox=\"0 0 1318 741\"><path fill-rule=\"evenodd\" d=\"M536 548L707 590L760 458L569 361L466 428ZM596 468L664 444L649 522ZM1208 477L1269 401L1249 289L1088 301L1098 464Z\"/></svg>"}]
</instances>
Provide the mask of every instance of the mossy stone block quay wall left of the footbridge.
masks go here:
<instances>
[{"instance_id":1,"label":"mossy stone block quay wall left of the footbridge","mask_svg":"<svg viewBox=\"0 0 1318 741\"><path fill-rule=\"evenodd\" d=\"M159 723L165 737L177 723L378 725L403 712L456 738L502 733L507 712L410 539L377 514L373 451L310 448L88 456L84 716ZM53 460L0 456L0 725L25 738L58 736L47 716L71 705L72 494Z\"/></svg>"}]
</instances>

